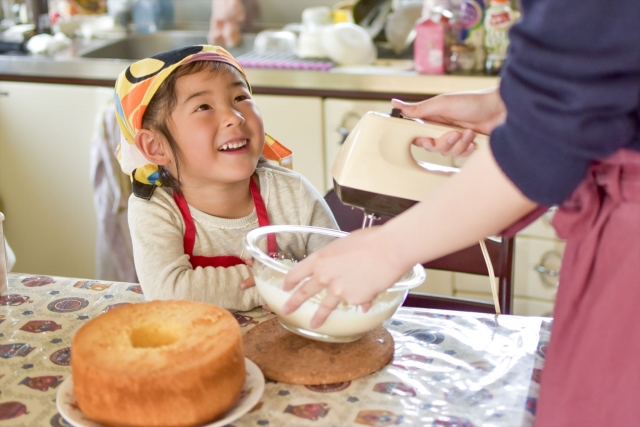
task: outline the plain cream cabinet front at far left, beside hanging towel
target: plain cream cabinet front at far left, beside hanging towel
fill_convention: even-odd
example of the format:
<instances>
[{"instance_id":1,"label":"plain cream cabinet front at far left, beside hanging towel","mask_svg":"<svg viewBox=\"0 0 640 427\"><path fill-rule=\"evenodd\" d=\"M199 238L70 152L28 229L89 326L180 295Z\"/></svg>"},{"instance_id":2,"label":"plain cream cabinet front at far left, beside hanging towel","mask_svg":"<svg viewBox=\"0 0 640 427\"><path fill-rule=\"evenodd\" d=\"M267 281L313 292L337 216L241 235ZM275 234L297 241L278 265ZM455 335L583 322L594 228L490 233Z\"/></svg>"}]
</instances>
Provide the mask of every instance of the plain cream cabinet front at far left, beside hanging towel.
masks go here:
<instances>
[{"instance_id":1,"label":"plain cream cabinet front at far left, beside hanging towel","mask_svg":"<svg viewBox=\"0 0 640 427\"><path fill-rule=\"evenodd\" d=\"M0 201L14 271L94 277L89 151L113 89L0 82Z\"/></svg>"}]
</instances>

